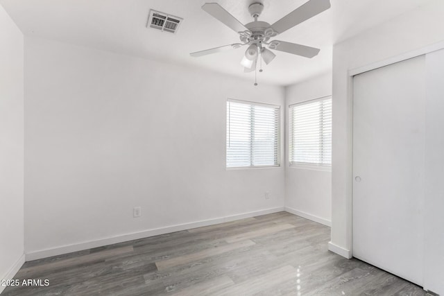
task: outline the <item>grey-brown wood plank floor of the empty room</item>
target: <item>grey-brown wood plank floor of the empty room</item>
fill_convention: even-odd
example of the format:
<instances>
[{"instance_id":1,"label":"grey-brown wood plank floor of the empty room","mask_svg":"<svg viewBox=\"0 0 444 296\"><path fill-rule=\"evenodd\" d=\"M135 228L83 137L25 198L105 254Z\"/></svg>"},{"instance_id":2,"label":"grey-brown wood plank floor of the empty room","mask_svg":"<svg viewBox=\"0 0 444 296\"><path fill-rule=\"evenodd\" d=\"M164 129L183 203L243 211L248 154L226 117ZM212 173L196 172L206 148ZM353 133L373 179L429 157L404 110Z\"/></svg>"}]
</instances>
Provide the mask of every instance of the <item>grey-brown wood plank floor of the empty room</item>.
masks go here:
<instances>
[{"instance_id":1,"label":"grey-brown wood plank floor of the empty room","mask_svg":"<svg viewBox=\"0 0 444 296\"><path fill-rule=\"evenodd\" d=\"M425 295L327 250L330 228L285 212L25 263L2 295Z\"/></svg>"}]
</instances>

